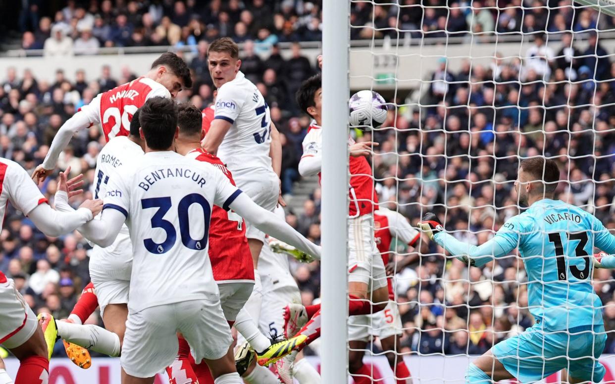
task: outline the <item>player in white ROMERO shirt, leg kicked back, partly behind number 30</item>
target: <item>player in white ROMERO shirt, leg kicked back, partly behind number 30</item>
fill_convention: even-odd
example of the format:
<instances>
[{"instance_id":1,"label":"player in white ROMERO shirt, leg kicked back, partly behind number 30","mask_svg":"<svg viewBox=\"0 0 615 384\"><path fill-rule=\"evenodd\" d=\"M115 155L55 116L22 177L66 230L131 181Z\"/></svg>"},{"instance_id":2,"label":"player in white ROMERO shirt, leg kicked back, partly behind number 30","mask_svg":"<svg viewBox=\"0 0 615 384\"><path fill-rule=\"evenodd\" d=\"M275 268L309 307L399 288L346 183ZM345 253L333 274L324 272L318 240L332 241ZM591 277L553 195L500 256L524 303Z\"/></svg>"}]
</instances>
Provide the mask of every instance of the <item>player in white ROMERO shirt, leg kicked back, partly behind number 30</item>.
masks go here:
<instances>
[{"instance_id":1,"label":"player in white ROMERO shirt, leg kicked back, partly behind number 30","mask_svg":"<svg viewBox=\"0 0 615 384\"><path fill-rule=\"evenodd\" d=\"M105 196L109 180L116 178L122 168L133 167L143 156L145 142L139 134L138 116L139 111L137 110L130 122L129 136L118 136L109 141L98 154L92 185L94 197ZM60 188L55 195L55 205L58 210L72 210L68 205L67 192L70 193L72 189L79 186L78 180L79 176L69 180L69 185L66 186L66 179L60 178ZM90 354L82 348L89 348L112 357L119 356L121 351L126 330L126 319L128 318L127 304L130 273L132 271L132 245L126 225L122 226L113 245L106 248L94 245L90 255L89 267L90 278L96 294L92 292L84 293L86 297L80 298L79 303L90 304L91 309L85 313L83 313L83 310L79 311L81 315L79 317L69 316L67 322L58 321L56 323L57 336L65 340L66 355L77 366L84 369L90 367L92 359ZM95 304L92 304L94 301ZM81 325L97 305L100 305L100 314L105 324L106 331L104 332L91 324ZM53 317L49 313L43 316L50 319ZM77 348L73 344L82 348Z\"/></svg>"}]
</instances>

